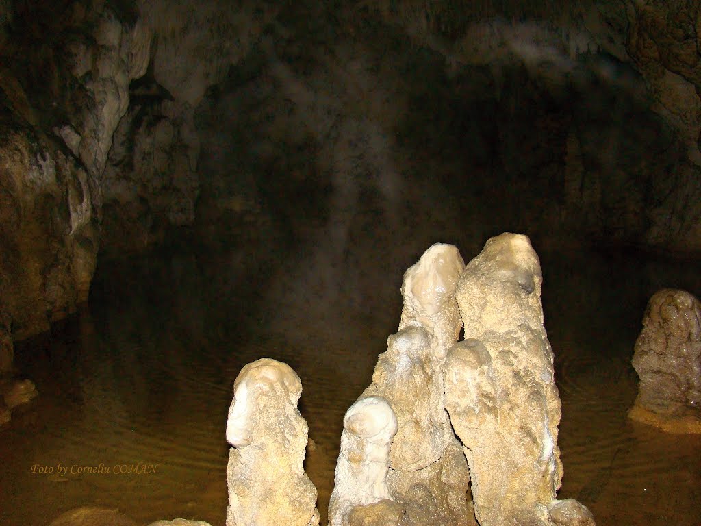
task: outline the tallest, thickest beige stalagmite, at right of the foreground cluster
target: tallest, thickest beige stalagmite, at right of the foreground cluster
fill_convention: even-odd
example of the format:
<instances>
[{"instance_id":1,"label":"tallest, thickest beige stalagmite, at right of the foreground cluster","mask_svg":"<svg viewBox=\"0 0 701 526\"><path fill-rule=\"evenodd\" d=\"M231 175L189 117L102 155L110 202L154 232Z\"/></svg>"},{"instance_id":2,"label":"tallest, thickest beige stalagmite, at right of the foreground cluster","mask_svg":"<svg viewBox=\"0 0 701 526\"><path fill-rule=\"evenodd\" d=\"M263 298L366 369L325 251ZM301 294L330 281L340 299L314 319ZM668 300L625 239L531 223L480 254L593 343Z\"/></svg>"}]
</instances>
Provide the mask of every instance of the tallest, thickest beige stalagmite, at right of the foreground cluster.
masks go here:
<instances>
[{"instance_id":1,"label":"tallest, thickest beige stalagmite, at right of the foreground cluster","mask_svg":"<svg viewBox=\"0 0 701 526\"><path fill-rule=\"evenodd\" d=\"M548 506L559 509L560 402L541 281L529 238L502 234L486 242L457 285L465 340L448 353L446 407L481 526L552 525Z\"/></svg>"}]
</instances>

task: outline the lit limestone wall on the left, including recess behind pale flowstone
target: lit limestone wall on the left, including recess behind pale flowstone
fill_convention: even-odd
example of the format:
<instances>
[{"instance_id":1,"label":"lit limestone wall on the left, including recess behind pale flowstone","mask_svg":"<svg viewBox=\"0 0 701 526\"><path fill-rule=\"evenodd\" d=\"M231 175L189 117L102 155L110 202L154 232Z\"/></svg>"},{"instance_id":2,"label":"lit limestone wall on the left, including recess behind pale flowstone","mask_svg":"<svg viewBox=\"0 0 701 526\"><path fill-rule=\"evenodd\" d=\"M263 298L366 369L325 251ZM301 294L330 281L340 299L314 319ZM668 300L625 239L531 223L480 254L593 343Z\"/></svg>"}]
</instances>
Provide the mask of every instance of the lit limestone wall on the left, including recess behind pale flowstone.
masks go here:
<instances>
[{"instance_id":1,"label":"lit limestone wall on the left, including recess behind pale flowstone","mask_svg":"<svg viewBox=\"0 0 701 526\"><path fill-rule=\"evenodd\" d=\"M101 246L123 255L193 222L194 107L275 13L263 7L2 4L0 311L15 339L86 299Z\"/></svg>"}]
</instances>

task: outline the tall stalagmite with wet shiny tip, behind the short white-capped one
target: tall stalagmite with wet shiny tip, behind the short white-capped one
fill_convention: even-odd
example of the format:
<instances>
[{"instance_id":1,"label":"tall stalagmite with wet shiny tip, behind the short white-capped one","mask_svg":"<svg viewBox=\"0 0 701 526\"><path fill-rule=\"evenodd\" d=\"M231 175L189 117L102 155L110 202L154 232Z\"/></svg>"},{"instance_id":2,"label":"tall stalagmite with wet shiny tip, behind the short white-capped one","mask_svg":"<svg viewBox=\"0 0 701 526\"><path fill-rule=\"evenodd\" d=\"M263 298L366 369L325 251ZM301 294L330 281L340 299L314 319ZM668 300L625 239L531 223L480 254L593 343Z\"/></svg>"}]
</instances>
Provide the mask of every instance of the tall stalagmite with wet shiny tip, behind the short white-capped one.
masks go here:
<instances>
[{"instance_id":1,"label":"tall stalagmite with wet shiny tip, behind the short white-capped one","mask_svg":"<svg viewBox=\"0 0 701 526\"><path fill-rule=\"evenodd\" d=\"M386 484L389 499L406 510L402 525L474 524L470 476L444 409L442 375L446 351L461 328L454 289L463 268L457 248L437 243L407 270L400 330L388 338L372 384L355 404L381 398L396 414ZM368 504L358 489L348 494L353 485L339 469L345 465L341 457L332 501ZM329 518L332 526L350 524L338 513L329 513Z\"/></svg>"}]
</instances>

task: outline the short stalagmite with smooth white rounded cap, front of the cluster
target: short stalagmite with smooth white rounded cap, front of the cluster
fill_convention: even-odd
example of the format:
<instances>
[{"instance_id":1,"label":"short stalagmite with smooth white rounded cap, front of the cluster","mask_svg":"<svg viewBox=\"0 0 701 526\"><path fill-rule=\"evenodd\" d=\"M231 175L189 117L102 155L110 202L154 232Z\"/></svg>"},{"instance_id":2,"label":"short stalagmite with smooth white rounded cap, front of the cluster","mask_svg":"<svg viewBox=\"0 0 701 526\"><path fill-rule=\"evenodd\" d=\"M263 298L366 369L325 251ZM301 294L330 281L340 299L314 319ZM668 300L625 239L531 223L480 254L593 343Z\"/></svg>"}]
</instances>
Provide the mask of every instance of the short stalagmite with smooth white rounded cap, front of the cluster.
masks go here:
<instances>
[{"instance_id":1,"label":"short stalagmite with smooth white rounded cap, front of the cluster","mask_svg":"<svg viewBox=\"0 0 701 526\"><path fill-rule=\"evenodd\" d=\"M351 525L351 515L356 506L390 500L386 478L390 445L396 433L397 417L384 398L360 398L346 411L341 452L336 461L334 491L329 501L329 525ZM385 511L394 517L397 508L376 506L372 508L372 513L365 508L365 511L355 513L355 520L367 518L367 514L375 515L376 520L389 520L383 515Z\"/></svg>"}]
</instances>

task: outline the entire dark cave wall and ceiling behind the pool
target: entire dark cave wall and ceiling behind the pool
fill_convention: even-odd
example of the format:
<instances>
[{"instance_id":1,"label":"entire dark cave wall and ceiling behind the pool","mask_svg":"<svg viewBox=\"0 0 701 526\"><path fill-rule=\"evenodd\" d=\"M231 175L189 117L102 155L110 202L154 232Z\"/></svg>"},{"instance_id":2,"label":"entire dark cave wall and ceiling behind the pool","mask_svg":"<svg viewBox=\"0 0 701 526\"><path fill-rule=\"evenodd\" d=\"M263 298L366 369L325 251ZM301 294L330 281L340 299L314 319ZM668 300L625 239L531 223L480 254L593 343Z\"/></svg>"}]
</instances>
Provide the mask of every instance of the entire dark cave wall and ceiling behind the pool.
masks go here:
<instances>
[{"instance_id":1,"label":"entire dark cave wall and ceiling behind the pool","mask_svg":"<svg viewBox=\"0 0 701 526\"><path fill-rule=\"evenodd\" d=\"M5 2L0 315L46 330L98 251L171 243L284 247L327 291L505 230L699 254L699 20L692 1Z\"/></svg>"}]
</instances>

